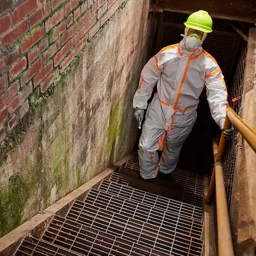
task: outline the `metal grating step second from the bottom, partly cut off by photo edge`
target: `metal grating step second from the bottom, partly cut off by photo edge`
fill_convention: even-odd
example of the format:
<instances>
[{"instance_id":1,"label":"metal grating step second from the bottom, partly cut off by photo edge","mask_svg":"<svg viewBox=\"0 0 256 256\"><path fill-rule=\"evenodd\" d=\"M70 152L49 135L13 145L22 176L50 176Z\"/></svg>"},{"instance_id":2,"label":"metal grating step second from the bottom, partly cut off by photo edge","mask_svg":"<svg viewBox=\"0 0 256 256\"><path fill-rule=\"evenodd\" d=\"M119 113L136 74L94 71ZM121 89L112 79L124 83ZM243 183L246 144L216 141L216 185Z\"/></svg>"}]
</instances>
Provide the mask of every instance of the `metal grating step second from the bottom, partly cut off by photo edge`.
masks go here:
<instances>
[{"instance_id":1,"label":"metal grating step second from the bottom, partly cut off by photo edge","mask_svg":"<svg viewBox=\"0 0 256 256\"><path fill-rule=\"evenodd\" d=\"M88 225L82 225L60 216L54 216L54 220L47 228L43 239L52 244L57 244L79 255L161 255L140 244L127 241L120 237L107 234Z\"/></svg>"}]
</instances>

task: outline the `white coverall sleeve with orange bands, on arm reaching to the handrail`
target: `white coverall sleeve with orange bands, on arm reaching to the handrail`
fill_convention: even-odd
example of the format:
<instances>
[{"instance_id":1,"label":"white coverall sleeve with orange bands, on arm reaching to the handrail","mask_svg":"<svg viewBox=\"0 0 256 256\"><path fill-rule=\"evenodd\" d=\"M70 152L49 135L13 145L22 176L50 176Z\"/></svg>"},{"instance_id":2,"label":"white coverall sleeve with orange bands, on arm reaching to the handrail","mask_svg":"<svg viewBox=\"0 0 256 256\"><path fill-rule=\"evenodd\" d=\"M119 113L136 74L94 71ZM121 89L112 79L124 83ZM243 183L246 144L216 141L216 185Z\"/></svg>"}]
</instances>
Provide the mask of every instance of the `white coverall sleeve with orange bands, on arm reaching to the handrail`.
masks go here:
<instances>
[{"instance_id":1,"label":"white coverall sleeve with orange bands, on arm reaching to the handrail","mask_svg":"<svg viewBox=\"0 0 256 256\"><path fill-rule=\"evenodd\" d=\"M205 86L212 118L215 120L216 124L220 126L220 120L226 117L228 102L227 87L217 63L214 63L211 68L207 68Z\"/></svg>"}]
</instances>

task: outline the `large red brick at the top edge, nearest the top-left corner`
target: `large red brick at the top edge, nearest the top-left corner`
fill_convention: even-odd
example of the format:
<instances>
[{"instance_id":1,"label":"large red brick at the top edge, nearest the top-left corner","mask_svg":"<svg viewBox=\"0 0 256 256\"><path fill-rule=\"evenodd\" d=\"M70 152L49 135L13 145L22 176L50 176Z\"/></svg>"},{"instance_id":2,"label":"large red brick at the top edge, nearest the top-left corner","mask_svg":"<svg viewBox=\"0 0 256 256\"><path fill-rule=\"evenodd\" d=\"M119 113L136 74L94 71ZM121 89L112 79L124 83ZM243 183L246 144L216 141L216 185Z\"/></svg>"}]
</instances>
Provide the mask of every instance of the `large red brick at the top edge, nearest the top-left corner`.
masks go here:
<instances>
[{"instance_id":1,"label":"large red brick at the top edge, nearest the top-left corner","mask_svg":"<svg viewBox=\"0 0 256 256\"><path fill-rule=\"evenodd\" d=\"M36 10L37 3L35 0L27 0L24 3L20 4L12 14L13 24L22 20L26 15Z\"/></svg>"}]
</instances>

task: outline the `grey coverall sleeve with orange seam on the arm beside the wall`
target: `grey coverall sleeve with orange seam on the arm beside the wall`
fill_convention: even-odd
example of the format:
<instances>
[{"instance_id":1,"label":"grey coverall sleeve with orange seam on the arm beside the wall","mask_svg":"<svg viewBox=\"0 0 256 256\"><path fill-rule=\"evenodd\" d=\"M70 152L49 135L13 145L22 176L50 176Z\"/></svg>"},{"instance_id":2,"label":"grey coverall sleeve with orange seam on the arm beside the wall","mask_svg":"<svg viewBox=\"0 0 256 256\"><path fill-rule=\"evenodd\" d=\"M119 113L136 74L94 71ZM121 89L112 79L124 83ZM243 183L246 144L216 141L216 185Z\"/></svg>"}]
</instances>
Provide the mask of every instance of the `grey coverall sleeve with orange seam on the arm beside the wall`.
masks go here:
<instances>
[{"instance_id":1,"label":"grey coverall sleeve with orange seam on the arm beside the wall","mask_svg":"<svg viewBox=\"0 0 256 256\"><path fill-rule=\"evenodd\" d=\"M133 108L147 109L147 101L150 99L153 88L160 79L163 70L158 55L151 58L141 71L139 88L133 98Z\"/></svg>"}]
</instances>

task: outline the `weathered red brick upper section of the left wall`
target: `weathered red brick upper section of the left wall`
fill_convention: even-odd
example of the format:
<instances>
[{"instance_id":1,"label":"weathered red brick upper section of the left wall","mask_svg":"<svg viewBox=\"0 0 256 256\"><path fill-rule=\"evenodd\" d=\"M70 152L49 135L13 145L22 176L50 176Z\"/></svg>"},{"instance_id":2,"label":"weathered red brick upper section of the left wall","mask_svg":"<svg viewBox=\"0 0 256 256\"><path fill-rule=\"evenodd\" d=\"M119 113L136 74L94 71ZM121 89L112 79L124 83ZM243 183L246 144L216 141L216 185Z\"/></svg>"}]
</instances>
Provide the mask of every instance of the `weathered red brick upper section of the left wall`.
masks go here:
<instances>
[{"instance_id":1,"label":"weathered red brick upper section of the left wall","mask_svg":"<svg viewBox=\"0 0 256 256\"><path fill-rule=\"evenodd\" d=\"M26 0L1 6L0 141L123 1Z\"/></svg>"}]
</instances>

